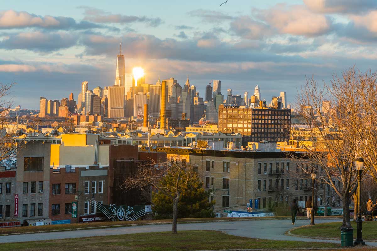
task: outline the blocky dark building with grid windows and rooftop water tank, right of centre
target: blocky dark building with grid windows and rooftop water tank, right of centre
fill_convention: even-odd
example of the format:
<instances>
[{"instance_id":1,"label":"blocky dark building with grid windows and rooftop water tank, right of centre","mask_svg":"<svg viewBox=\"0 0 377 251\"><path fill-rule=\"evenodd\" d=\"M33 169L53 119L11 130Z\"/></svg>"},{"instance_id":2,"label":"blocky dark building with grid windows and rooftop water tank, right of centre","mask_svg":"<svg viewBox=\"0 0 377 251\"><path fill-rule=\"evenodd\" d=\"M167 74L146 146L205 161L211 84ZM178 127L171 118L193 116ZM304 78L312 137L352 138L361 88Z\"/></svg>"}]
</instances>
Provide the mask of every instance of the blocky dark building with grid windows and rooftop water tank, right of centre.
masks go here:
<instances>
[{"instance_id":1,"label":"blocky dark building with grid windows and rooftop water tank, right of centre","mask_svg":"<svg viewBox=\"0 0 377 251\"><path fill-rule=\"evenodd\" d=\"M242 144L247 142L285 141L290 137L291 110L267 107L219 106L219 131L241 133Z\"/></svg>"}]
</instances>

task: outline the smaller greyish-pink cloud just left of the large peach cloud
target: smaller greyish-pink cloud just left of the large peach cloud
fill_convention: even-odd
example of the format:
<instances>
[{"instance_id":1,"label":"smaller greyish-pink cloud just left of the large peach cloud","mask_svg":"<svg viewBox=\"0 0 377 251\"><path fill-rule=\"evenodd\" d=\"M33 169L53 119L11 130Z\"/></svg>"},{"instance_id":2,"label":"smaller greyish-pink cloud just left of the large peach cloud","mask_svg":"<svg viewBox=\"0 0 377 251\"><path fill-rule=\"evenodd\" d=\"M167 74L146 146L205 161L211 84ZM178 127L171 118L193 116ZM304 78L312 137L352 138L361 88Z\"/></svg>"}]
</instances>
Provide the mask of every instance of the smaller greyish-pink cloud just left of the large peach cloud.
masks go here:
<instances>
[{"instance_id":1,"label":"smaller greyish-pink cloud just left of the large peach cloud","mask_svg":"<svg viewBox=\"0 0 377 251\"><path fill-rule=\"evenodd\" d=\"M251 17L242 16L230 23L230 30L236 35L246 39L260 39L266 35L271 35L270 27Z\"/></svg>"}]
</instances>

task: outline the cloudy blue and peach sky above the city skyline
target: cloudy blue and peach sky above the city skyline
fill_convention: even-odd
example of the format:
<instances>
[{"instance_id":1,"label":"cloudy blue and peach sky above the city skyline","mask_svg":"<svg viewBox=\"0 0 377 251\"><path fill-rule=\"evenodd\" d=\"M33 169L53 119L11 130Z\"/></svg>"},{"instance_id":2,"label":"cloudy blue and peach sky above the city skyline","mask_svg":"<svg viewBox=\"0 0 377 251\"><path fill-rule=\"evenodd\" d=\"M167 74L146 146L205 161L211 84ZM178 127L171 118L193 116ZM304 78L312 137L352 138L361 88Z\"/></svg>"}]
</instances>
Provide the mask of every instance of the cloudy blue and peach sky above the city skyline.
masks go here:
<instances>
[{"instance_id":1,"label":"cloudy blue and peach sky above the city skyline","mask_svg":"<svg viewBox=\"0 0 377 251\"><path fill-rule=\"evenodd\" d=\"M329 82L356 65L376 70L376 0L20 1L0 7L0 83L15 82L14 105L39 109L81 82L115 82L122 39L126 72L146 82L187 74L201 97L212 80L226 96L280 91L294 103L305 78Z\"/></svg>"}]
</instances>

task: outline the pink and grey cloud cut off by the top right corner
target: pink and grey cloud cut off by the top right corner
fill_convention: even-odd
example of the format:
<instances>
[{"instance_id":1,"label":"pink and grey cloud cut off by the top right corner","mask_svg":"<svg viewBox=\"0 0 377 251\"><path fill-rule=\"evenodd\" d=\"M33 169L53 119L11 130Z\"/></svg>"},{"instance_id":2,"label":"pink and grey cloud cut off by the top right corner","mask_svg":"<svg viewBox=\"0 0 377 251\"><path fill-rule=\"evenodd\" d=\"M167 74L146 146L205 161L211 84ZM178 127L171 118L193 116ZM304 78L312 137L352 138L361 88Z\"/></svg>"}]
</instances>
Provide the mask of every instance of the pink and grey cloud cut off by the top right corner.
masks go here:
<instances>
[{"instance_id":1,"label":"pink and grey cloud cut off by the top right corner","mask_svg":"<svg viewBox=\"0 0 377 251\"><path fill-rule=\"evenodd\" d=\"M303 0L312 11L321 13L359 13L377 8L376 0Z\"/></svg>"}]
</instances>

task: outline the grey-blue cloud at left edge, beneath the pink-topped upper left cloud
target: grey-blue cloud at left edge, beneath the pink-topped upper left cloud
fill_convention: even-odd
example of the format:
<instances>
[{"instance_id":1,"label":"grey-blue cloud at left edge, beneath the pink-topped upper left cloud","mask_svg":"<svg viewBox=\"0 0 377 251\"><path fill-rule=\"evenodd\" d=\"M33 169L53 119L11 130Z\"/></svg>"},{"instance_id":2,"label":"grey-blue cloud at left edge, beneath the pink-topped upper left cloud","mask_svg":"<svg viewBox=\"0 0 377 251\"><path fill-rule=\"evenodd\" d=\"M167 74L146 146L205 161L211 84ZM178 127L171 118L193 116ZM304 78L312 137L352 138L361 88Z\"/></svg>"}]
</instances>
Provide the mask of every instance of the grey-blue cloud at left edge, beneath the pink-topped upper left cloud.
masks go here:
<instances>
[{"instance_id":1,"label":"grey-blue cloud at left edge, beneath the pink-topped upper left cloud","mask_svg":"<svg viewBox=\"0 0 377 251\"><path fill-rule=\"evenodd\" d=\"M9 35L0 41L6 50L24 49L36 52L52 52L77 44L78 36L68 32L22 32Z\"/></svg>"}]
</instances>

